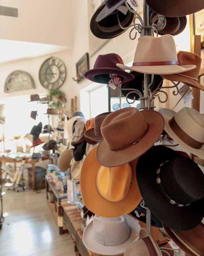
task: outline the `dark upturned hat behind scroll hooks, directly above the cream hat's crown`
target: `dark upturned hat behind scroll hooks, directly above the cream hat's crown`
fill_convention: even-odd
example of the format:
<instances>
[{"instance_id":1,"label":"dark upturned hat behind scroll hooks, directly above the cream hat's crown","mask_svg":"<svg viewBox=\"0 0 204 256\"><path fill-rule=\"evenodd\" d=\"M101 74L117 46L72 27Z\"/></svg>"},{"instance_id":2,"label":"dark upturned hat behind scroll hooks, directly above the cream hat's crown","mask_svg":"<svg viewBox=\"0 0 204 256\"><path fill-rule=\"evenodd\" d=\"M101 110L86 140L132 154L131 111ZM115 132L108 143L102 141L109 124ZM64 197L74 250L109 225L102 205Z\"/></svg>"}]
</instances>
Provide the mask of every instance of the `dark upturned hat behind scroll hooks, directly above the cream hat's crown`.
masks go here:
<instances>
[{"instance_id":1,"label":"dark upturned hat behind scroll hooks, directly above the cream hat's crown","mask_svg":"<svg viewBox=\"0 0 204 256\"><path fill-rule=\"evenodd\" d=\"M151 15L149 15L150 22L156 15L157 15L156 12L152 12ZM179 35L186 27L186 23L187 23L186 16L165 17L165 18L166 18L166 26L162 30L158 30L158 34L160 36L167 35L167 34L172 36Z\"/></svg>"}]
</instances>

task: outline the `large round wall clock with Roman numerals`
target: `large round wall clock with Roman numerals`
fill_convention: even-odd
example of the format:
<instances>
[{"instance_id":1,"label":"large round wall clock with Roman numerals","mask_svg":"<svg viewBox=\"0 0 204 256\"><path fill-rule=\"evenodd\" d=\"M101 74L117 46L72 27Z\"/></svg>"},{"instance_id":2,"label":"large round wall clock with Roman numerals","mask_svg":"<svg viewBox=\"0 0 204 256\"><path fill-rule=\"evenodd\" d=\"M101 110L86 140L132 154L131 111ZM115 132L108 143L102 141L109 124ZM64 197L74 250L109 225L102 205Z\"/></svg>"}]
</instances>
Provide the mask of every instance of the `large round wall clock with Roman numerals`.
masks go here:
<instances>
[{"instance_id":1,"label":"large round wall clock with Roman numerals","mask_svg":"<svg viewBox=\"0 0 204 256\"><path fill-rule=\"evenodd\" d=\"M46 59L40 67L40 83L48 90L57 89L62 86L65 77L65 64L56 57Z\"/></svg>"}]
</instances>

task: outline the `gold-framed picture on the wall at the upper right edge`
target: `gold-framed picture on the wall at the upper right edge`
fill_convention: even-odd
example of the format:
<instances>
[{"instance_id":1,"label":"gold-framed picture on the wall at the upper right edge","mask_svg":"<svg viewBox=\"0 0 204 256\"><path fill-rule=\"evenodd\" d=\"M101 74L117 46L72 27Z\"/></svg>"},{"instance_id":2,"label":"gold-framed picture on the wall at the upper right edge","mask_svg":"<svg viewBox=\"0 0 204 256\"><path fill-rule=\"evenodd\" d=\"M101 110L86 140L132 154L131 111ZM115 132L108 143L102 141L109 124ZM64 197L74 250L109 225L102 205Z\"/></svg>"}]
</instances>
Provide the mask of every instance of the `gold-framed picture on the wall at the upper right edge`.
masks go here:
<instances>
[{"instance_id":1,"label":"gold-framed picture on the wall at the upper right edge","mask_svg":"<svg viewBox=\"0 0 204 256\"><path fill-rule=\"evenodd\" d=\"M201 36L201 49L204 48L204 9L190 15L190 50L192 51L193 36Z\"/></svg>"}]
</instances>

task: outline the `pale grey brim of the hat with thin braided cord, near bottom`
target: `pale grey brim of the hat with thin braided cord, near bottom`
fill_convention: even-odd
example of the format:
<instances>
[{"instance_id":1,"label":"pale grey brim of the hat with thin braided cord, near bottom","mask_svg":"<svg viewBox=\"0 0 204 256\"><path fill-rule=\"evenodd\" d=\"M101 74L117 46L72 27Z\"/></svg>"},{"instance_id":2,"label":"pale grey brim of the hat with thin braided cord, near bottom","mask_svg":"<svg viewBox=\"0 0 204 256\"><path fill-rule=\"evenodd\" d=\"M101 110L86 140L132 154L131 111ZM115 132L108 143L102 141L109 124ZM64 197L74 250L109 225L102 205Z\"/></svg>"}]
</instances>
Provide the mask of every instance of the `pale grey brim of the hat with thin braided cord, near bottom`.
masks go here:
<instances>
[{"instance_id":1,"label":"pale grey brim of the hat with thin braided cord, near bottom","mask_svg":"<svg viewBox=\"0 0 204 256\"><path fill-rule=\"evenodd\" d=\"M124 216L127 220L128 226L131 229L130 238L119 245L116 246L106 246L94 239L94 227L93 221L91 221L83 232L83 243L88 250L102 255L118 255L123 254L125 249L139 236L139 230L141 229L139 223L129 215Z\"/></svg>"}]
</instances>

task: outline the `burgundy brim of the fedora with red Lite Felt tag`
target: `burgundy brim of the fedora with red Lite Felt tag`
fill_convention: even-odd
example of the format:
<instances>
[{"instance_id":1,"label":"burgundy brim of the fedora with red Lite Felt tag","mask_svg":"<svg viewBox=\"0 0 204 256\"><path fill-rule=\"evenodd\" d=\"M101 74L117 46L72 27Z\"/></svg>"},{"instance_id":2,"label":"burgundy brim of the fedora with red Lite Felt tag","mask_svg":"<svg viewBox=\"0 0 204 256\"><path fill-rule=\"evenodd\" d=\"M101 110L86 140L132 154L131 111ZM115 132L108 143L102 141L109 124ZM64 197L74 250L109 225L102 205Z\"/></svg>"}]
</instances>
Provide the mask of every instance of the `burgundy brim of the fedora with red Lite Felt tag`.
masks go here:
<instances>
[{"instance_id":1,"label":"burgundy brim of the fedora with red Lite Felt tag","mask_svg":"<svg viewBox=\"0 0 204 256\"><path fill-rule=\"evenodd\" d=\"M105 78L104 81L103 79L97 79L95 76L101 75L101 74L116 74L118 76L122 77L122 82L128 82L134 79L134 76L131 75L130 73L120 70L118 68L95 68L95 69L90 69L84 73L84 77L92 82L95 83L105 83L107 84L108 81L111 79L109 76L108 78Z\"/></svg>"}]
</instances>

